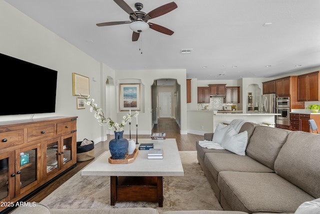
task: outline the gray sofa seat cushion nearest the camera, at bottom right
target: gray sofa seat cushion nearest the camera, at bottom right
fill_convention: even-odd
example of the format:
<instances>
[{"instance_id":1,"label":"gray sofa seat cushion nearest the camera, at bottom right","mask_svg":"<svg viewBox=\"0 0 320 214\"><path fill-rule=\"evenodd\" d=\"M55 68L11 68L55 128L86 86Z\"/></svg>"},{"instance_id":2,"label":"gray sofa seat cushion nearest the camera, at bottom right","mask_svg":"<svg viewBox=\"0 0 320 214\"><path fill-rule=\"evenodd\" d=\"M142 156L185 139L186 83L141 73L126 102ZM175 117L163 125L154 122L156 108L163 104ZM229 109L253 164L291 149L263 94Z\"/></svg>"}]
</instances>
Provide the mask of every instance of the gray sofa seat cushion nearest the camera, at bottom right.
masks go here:
<instances>
[{"instance_id":1,"label":"gray sofa seat cushion nearest the camera, at bottom right","mask_svg":"<svg viewBox=\"0 0 320 214\"><path fill-rule=\"evenodd\" d=\"M315 199L276 173L221 171L218 186L232 210L248 213L294 212Z\"/></svg>"}]
</instances>

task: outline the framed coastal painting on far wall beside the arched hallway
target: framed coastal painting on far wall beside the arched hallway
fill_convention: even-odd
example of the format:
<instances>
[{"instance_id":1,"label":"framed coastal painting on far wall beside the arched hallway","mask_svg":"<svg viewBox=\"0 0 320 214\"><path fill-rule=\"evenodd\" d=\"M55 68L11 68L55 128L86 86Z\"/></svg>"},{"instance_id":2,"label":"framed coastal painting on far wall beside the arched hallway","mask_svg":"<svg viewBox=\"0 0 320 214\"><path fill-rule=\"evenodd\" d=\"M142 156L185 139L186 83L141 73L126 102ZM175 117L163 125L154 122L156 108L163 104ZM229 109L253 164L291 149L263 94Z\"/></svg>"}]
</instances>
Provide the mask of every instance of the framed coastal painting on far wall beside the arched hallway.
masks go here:
<instances>
[{"instance_id":1,"label":"framed coastal painting on far wall beside the arched hallway","mask_svg":"<svg viewBox=\"0 0 320 214\"><path fill-rule=\"evenodd\" d=\"M120 84L120 111L140 111L140 83Z\"/></svg>"}]
</instances>

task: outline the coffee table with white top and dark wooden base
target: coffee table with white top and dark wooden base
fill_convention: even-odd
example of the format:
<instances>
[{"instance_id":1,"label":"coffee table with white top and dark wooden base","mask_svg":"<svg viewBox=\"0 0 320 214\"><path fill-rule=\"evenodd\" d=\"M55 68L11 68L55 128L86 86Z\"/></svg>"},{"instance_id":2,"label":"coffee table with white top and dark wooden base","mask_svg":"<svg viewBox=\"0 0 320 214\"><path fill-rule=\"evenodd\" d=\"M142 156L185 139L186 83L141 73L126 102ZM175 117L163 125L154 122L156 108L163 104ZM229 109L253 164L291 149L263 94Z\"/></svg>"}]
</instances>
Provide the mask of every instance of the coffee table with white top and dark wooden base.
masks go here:
<instances>
[{"instance_id":1,"label":"coffee table with white top and dark wooden base","mask_svg":"<svg viewBox=\"0 0 320 214\"><path fill-rule=\"evenodd\" d=\"M81 175L110 176L110 204L116 201L151 201L163 206L163 176L183 176L175 139L138 139L163 149L163 159L147 159L148 150L139 150L132 163L111 164L109 151L102 153L81 171ZM136 145L138 148L138 144Z\"/></svg>"}]
</instances>

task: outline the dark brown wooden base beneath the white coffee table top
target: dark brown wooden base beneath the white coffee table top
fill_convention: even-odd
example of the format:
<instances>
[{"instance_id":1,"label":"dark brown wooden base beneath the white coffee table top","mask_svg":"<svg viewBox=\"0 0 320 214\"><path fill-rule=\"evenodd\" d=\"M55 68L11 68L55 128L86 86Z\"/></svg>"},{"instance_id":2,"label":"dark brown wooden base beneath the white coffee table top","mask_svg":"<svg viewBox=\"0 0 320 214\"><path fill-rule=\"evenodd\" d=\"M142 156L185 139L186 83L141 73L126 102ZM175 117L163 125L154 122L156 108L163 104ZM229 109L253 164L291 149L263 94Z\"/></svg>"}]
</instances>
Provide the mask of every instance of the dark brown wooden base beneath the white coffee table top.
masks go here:
<instances>
[{"instance_id":1,"label":"dark brown wooden base beneath the white coffee table top","mask_svg":"<svg viewBox=\"0 0 320 214\"><path fill-rule=\"evenodd\" d=\"M149 201L163 206L162 176L110 176L110 204L116 201Z\"/></svg>"}]
</instances>

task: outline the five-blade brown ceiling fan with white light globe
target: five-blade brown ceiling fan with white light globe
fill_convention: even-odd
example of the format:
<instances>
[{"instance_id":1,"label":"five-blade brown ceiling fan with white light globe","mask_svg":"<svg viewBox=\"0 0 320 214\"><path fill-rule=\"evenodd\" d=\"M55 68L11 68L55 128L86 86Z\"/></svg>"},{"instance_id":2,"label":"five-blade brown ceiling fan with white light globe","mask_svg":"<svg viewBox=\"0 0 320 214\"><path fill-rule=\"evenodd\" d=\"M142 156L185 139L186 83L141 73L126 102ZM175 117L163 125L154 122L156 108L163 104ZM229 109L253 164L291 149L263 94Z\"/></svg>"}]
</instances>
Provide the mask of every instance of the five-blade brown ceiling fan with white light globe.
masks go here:
<instances>
[{"instance_id":1,"label":"five-blade brown ceiling fan with white light globe","mask_svg":"<svg viewBox=\"0 0 320 214\"><path fill-rule=\"evenodd\" d=\"M151 28L154 31L160 32L166 35L172 35L174 32L164 28L160 25L156 25L153 23L147 23L148 20L162 16L164 14L169 13L177 8L177 5L174 2L162 5L149 13L142 12L143 5L141 3L135 3L134 8L137 11L133 11L130 6L128 6L123 0L113 0L123 11L125 11L129 15L130 21L122 21L122 22L105 22L96 24L98 27L102 26L111 26L111 25L122 25L122 24L130 24L130 29L133 31L132 33L132 41L137 41L139 39L140 33L142 31Z\"/></svg>"}]
</instances>

